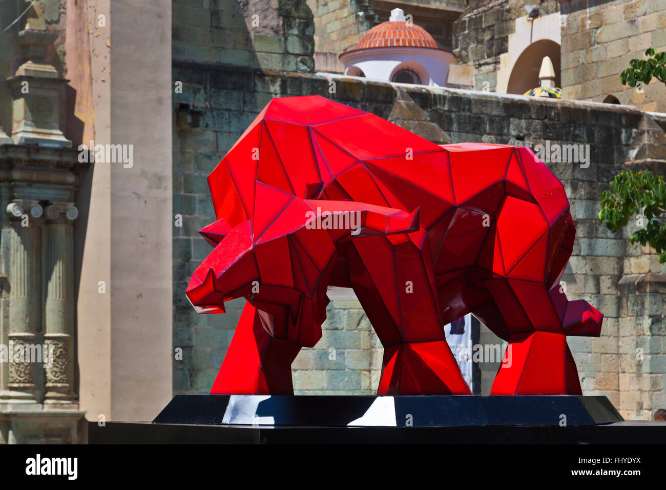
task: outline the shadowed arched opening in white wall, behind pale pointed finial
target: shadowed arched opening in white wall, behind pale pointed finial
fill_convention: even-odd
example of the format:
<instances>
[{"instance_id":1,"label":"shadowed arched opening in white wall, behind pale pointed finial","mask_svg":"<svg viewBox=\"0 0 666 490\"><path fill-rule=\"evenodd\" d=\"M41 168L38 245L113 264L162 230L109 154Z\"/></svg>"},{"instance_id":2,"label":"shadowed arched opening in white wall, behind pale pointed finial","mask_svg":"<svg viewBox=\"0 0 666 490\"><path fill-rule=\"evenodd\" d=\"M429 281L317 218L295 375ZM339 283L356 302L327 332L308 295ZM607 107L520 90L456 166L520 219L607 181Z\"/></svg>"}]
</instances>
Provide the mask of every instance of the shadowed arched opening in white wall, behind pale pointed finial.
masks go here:
<instances>
[{"instance_id":1,"label":"shadowed arched opening in white wall, behind pale pointed finial","mask_svg":"<svg viewBox=\"0 0 666 490\"><path fill-rule=\"evenodd\" d=\"M539 87L539 70L541 69L541 61L545 56L550 57L553 62L555 87L561 87L559 44L550 39L541 39L531 43L520 53L509 76L507 93L523 95L528 90Z\"/></svg>"}]
</instances>

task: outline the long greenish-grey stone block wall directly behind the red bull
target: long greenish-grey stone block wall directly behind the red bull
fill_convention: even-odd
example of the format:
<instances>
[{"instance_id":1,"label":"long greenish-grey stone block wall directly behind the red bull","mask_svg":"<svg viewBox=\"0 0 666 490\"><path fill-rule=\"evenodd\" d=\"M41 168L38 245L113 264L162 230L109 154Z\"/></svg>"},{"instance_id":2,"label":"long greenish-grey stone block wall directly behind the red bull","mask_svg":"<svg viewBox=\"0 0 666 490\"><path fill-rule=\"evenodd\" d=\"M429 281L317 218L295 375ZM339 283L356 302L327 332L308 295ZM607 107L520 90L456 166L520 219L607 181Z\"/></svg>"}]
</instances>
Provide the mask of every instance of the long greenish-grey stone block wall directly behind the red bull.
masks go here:
<instances>
[{"instance_id":1,"label":"long greenish-grey stone block wall directly behind the red bull","mask_svg":"<svg viewBox=\"0 0 666 490\"><path fill-rule=\"evenodd\" d=\"M174 345L186 347L185 358L175 365L174 391L196 393L212 384L241 307L236 300L226 315L197 316L184 299L190 274L209 250L196 233L214 219L206 175L271 97L319 94L388 118L396 89L390 83L340 77L332 79L336 93L331 95L330 80L316 75L179 62L174 63L173 77L185 81L186 87L184 95L174 99L173 212L183 216L183 226L174 236ZM599 339L569 338L569 345L585 393L607 395L629 418L647 417L663 406L661 293L618 294L623 276L659 273L663 267L648 250L629 246L628 232L625 237L597 224L599 194L627 161L644 114L619 105L418 86L405 89L454 143L589 145L589 166L548 164L565 186L577 225L573 256L563 278L567 293L570 299L587 299L605 315ZM666 127L666 115L651 117L660 130ZM650 305L648 313L641 304ZM641 339L636 337L637 328L643 329ZM483 342L494 343L487 331ZM649 362L635 362L635 343L644 346ZM329 359L329 349L336 349L336 359ZM296 391L372 393L380 351L358 303L333 301L322 341L314 349L304 349L294 363ZM486 382L492 369L482 367ZM487 393L488 387L483 391Z\"/></svg>"}]
</instances>

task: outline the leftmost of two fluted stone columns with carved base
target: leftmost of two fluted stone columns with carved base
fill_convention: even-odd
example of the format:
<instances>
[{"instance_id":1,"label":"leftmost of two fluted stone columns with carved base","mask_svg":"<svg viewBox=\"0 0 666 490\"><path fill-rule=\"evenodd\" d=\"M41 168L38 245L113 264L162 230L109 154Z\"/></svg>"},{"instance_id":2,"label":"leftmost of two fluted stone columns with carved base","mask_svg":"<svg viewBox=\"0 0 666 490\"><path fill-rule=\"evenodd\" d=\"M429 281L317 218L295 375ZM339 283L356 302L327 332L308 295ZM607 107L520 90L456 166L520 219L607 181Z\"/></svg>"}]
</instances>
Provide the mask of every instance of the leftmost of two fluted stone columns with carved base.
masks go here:
<instances>
[{"instance_id":1,"label":"leftmost of two fluted stone columns with carved base","mask_svg":"<svg viewBox=\"0 0 666 490\"><path fill-rule=\"evenodd\" d=\"M29 213L29 214L28 214ZM7 390L1 398L5 403L38 403L41 373L37 363L21 355L25 345L38 343L41 333L41 281L38 225L30 219L39 218L43 209L37 201L15 200L7 206L9 232L9 374Z\"/></svg>"}]
</instances>

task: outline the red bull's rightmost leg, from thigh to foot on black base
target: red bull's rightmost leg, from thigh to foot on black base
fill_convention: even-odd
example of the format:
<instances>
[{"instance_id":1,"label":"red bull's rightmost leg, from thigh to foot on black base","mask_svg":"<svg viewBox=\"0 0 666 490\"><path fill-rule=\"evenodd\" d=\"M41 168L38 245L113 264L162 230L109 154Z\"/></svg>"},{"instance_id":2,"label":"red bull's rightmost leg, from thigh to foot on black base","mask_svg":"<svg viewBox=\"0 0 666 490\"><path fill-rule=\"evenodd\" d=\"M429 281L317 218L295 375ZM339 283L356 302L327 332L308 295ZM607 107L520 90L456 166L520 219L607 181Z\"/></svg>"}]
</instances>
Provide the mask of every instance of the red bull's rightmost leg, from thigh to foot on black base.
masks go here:
<instances>
[{"instance_id":1,"label":"red bull's rightmost leg, from thigh to foot on black base","mask_svg":"<svg viewBox=\"0 0 666 490\"><path fill-rule=\"evenodd\" d=\"M492 394L581 393L566 336L598 337L603 315L568 301L559 285L574 236L568 210L549 222L535 203L511 196L492 223L473 278L492 296L474 314L509 341Z\"/></svg>"}]
</instances>

